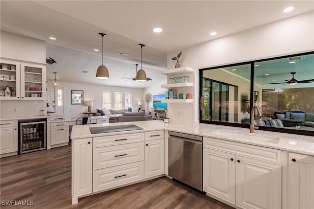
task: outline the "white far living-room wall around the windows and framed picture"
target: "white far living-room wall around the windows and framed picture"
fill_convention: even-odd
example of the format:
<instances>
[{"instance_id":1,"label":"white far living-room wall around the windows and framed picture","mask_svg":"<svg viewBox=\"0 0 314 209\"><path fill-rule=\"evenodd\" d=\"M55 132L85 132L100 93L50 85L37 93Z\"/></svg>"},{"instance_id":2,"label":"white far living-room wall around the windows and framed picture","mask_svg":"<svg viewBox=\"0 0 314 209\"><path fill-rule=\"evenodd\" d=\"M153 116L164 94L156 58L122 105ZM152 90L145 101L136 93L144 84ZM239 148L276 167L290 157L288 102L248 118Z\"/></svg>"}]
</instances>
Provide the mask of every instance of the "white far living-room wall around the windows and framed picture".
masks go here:
<instances>
[{"instance_id":1,"label":"white far living-room wall around the windows and framed picture","mask_svg":"<svg viewBox=\"0 0 314 209\"><path fill-rule=\"evenodd\" d=\"M47 86L52 86L51 81L48 81ZM79 83L69 83L60 82L59 87L63 87L63 99L64 99L64 114L66 118L82 117L86 116L83 113L87 112L87 106L85 106L85 101L93 101L93 106L91 107L92 112L96 109L102 109L102 96L103 92L111 92L111 107L114 109L114 92L122 93L122 104L124 106L124 93L132 93L132 107L138 107L137 101L143 102L143 89L135 88L125 88L125 87L114 87L114 86L100 86L100 85L90 85L90 84L79 84ZM84 104L71 104L71 90L83 91Z\"/></svg>"}]
</instances>

